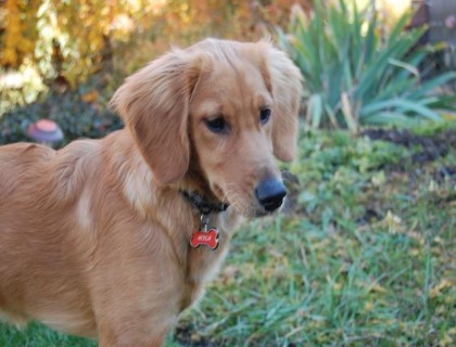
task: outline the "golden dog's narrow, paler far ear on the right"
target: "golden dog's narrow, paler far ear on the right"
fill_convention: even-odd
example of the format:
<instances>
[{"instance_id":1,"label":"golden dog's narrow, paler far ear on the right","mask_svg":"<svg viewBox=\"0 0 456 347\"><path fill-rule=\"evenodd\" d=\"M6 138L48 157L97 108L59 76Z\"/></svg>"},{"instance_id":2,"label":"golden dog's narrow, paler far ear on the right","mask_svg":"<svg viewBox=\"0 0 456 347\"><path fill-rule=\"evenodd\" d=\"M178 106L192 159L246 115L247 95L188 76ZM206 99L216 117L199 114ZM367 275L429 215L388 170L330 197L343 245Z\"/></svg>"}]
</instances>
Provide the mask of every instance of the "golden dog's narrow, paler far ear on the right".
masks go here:
<instances>
[{"instance_id":1,"label":"golden dog's narrow, paler far ear on the right","mask_svg":"<svg viewBox=\"0 0 456 347\"><path fill-rule=\"evenodd\" d=\"M296 155L302 76L286 53L271 47L268 53L266 65L275 105L274 155L280 160L291 162Z\"/></svg>"}]
</instances>

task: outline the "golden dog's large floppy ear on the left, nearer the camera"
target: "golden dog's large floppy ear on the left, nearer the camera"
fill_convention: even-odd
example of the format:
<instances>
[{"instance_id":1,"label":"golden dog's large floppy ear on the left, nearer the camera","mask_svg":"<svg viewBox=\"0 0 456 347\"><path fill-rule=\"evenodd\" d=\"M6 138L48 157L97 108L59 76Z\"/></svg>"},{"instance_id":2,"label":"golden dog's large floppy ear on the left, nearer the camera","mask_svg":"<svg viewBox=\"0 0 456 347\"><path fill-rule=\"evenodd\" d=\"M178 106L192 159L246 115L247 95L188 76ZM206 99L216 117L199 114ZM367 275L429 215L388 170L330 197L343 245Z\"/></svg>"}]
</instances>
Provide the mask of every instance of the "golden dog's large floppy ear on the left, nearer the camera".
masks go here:
<instances>
[{"instance_id":1,"label":"golden dog's large floppy ear on the left, nearer the camera","mask_svg":"<svg viewBox=\"0 0 456 347\"><path fill-rule=\"evenodd\" d=\"M181 179L189 167L188 113L199 76L198 60L175 50L128 77L110 103L163 184Z\"/></svg>"}]
</instances>

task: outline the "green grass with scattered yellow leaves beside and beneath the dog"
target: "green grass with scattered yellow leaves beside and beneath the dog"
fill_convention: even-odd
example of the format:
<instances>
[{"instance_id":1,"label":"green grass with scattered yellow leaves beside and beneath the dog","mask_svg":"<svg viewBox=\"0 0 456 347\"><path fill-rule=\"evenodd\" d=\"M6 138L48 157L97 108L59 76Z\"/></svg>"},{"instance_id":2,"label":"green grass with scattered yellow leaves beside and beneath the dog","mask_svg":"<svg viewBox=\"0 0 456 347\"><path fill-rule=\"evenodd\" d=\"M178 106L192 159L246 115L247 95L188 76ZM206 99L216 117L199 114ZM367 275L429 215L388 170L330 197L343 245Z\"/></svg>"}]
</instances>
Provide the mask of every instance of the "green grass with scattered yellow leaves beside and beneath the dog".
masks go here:
<instances>
[{"instance_id":1,"label":"green grass with scattered yellow leaves beside and beneath the dog","mask_svg":"<svg viewBox=\"0 0 456 347\"><path fill-rule=\"evenodd\" d=\"M291 211L239 230L167 346L454 345L455 145L427 163L419 144L345 131L302 132L300 147ZM96 345L33 323L1 325L0 346Z\"/></svg>"}]
</instances>

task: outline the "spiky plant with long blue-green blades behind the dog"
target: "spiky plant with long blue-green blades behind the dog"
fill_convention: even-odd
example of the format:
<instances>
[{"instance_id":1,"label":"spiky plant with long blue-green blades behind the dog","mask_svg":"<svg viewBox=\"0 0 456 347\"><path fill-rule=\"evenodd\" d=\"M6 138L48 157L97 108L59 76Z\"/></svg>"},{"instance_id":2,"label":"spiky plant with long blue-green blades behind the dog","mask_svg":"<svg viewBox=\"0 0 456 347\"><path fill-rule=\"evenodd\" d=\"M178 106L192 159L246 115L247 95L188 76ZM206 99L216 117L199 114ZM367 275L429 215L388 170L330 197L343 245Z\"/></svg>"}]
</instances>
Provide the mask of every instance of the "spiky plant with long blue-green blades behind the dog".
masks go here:
<instances>
[{"instance_id":1,"label":"spiky plant with long blue-green blades behind the dog","mask_svg":"<svg viewBox=\"0 0 456 347\"><path fill-rule=\"evenodd\" d=\"M383 37L371 2L359 11L346 0L327 8L316 1L311 16L295 12L290 35L279 33L305 79L309 126L356 131L360 124L410 125L413 116L440 120L436 110L454 110L456 98L435 91L456 73L421 76L428 52L415 46L425 28L406 30L410 15Z\"/></svg>"}]
</instances>

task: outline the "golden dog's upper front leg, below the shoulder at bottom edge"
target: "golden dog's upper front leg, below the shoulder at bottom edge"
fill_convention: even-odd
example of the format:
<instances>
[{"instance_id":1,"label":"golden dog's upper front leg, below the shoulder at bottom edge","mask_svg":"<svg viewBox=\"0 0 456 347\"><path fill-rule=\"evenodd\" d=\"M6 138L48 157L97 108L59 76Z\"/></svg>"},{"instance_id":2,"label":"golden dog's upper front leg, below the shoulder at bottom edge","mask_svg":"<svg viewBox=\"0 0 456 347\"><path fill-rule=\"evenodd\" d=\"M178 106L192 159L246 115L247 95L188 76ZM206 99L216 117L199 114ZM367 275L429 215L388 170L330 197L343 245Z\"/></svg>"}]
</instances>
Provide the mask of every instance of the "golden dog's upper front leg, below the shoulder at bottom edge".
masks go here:
<instances>
[{"instance_id":1,"label":"golden dog's upper front leg, below the shoulder at bottom edge","mask_svg":"<svg viewBox=\"0 0 456 347\"><path fill-rule=\"evenodd\" d=\"M157 226L122 228L104 237L91 272L101 347L162 346L180 312L183 271Z\"/></svg>"}]
</instances>

